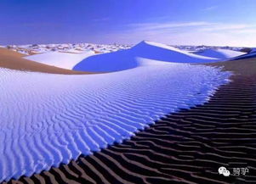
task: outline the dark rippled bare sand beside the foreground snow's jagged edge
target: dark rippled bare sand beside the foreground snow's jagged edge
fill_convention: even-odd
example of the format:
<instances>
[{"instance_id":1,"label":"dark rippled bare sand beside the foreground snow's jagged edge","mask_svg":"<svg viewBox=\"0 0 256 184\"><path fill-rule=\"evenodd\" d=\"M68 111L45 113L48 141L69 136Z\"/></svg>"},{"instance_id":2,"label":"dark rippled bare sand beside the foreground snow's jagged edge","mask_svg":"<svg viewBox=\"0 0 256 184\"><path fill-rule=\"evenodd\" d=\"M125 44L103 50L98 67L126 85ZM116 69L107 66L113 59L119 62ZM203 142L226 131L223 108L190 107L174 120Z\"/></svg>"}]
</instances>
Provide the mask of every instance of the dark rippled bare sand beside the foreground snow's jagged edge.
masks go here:
<instances>
[{"instance_id":1,"label":"dark rippled bare sand beside the foreground snow's jagged edge","mask_svg":"<svg viewBox=\"0 0 256 184\"><path fill-rule=\"evenodd\" d=\"M256 59L208 64L234 72L208 103L156 121L131 140L9 183L253 183ZM246 176L218 168L247 167Z\"/></svg>"}]
</instances>

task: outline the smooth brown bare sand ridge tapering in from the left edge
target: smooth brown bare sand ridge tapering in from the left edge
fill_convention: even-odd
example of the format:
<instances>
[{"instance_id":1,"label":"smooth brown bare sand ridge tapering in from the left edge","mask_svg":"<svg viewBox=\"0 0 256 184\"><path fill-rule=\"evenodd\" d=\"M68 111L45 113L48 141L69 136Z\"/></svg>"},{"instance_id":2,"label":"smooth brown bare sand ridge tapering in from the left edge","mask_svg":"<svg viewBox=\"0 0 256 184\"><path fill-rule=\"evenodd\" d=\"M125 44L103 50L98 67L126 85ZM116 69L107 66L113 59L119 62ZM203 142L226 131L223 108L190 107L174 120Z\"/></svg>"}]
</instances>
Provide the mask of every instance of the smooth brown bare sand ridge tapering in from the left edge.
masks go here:
<instances>
[{"instance_id":1,"label":"smooth brown bare sand ridge tapering in from the left edge","mask_svg":"<svg viewBox=\"0 0 256 184\"><path fill-rule=\"evenodd\" d=\"M40 64L28 59L23 59L22 53L17 53L6 48L0 48L0 67L12 70L37 71L50 74L94 74L93 72L82 72L75 70L65 70L47 64Z\"/></svg>"}]
</instances>

